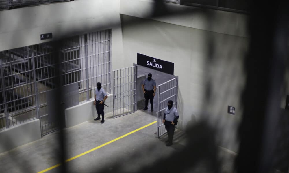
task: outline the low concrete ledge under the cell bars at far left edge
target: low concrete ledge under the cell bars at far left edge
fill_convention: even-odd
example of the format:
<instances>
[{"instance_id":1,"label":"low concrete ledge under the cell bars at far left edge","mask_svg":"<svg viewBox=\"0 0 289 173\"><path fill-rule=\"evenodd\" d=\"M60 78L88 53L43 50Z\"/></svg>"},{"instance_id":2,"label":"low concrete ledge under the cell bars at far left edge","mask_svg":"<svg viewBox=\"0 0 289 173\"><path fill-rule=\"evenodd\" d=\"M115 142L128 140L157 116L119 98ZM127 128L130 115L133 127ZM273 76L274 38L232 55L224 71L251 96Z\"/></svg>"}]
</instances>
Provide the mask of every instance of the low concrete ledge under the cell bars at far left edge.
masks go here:
<instances>
[{"instance_id":1,"label":"low concrete ledge under the cell bars at far left edge","mask_svg":"<svg viewBox=\"0 0 289 173\"><path fill-rule=\"evenodd\" d=\"M41 138L40 121L35 119L0 132L0 153Z\"/></svg>"}]
</instances>

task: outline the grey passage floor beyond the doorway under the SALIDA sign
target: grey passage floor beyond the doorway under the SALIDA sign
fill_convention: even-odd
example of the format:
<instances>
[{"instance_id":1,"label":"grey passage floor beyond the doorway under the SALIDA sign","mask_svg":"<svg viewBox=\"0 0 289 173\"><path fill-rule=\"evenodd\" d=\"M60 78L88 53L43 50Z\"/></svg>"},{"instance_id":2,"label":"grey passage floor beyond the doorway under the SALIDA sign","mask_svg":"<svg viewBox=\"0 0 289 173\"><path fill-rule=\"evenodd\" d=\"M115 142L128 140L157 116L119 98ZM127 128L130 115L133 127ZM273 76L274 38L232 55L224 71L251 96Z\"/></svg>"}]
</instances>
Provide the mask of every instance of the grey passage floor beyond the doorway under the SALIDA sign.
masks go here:
<instances>
[{"instance_id":1,"label":"grey passage floor beyond the doorway under the SALIDA sign","mask_svg":"<svg viewBox=\"0 0 289 173\"><path fill-rule=\"evenodd\" d=\"M160 71L157 71L157 70L153 70L153 69L150 69L150 68L146 68L146 67L143 67L143 66L140 66L140 65L137 65L138 66L138 75L146 75L147 77L147 74L151 73L152 74L152 79L155 80L155 83L157 84L157 87L158 85L168 81L168 80L171 80L173 78L175 78L175 76L173 75L170 75L170 74L166 74L166 73L163 73L163 72L160 72ZM157 101L158 101L158 95L156 95L154 98L153 98L153 109L157 110L158 108L158 104L157 104ZM144 102L143 101L140 101L138 102L138 110L140 109L143 109L144 108ZM148 110L147 112L151 112L151 104L149 102L148 104Z\"/></svg>"}]
</instances>

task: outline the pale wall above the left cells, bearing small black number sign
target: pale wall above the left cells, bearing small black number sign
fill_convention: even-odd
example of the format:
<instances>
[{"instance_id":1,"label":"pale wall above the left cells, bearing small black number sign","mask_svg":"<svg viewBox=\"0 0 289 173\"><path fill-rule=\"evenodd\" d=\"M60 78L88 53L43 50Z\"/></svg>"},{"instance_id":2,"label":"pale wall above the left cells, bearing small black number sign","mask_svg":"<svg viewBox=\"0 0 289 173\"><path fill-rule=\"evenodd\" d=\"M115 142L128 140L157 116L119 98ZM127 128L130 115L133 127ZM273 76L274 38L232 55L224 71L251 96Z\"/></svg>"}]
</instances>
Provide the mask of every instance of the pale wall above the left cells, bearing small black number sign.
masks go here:
<instances>
[{"instance_id":1,"label":"pale wall above the left cells, bearing small black number sign","mask_svg":"<svg viewBox=\"0 0 289 173\"><path fill-rule=\"evenodd\" d=\"M112 29L112 54L123 56L119 0L84 0L0 11L0 51ZM40 40L52 33L53 39Z\"/></svg>"}]
</instances>

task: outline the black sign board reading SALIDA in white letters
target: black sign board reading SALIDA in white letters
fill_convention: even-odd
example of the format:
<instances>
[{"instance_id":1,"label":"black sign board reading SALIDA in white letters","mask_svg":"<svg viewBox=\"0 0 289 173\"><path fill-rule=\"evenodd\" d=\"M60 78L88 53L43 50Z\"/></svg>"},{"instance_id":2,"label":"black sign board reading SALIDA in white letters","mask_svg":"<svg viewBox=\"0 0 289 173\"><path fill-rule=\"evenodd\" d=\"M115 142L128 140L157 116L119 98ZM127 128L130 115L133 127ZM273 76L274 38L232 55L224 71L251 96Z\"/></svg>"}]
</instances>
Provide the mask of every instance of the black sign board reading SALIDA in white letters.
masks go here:
<instances>
[{"instance_id":1,"label":"black sign board reading SALIDA in white letters","mask_svg":"<svg viewBox=\"0 0 289 173\"><path fill-rule=\"evenodd\" d=\"M174 75L174 63L138 53L138 65Z\"/></svg>"}]
</instances>

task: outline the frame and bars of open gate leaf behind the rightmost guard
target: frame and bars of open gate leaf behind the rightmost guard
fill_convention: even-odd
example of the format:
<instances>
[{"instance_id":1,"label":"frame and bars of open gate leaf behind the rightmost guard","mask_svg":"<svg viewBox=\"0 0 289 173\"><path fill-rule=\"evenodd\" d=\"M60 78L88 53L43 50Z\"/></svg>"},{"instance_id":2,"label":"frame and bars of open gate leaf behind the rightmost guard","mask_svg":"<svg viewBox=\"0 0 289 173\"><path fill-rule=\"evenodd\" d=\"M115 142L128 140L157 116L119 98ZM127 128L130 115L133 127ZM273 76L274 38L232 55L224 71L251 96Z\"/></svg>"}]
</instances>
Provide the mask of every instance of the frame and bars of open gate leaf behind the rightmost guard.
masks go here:
<instances>
[{"instance_id":1,"label":"frame and bars of open gate leaf behind the rightmost guard","mask_svg":"<svg viewBox=\"0 0 289 173\"><path fill-rule=\"evenodd\" d=\"M175 81L175 86L173 86L174 84L172 84L171 88L167 89L166 91L163 91L162 93L160 93L160 87L164 84L168 84L168 83L171 83ZM164 94L166 93L167 91L170 91L172 89L175 89L175 94L174 95L170 95L169 97L165 98L164 100L161 100L160 101L160 95L161 94ZM175 108L177 108L177 99L178 99L178 77L175 77L171 80L168 80L160 85L158 85L157 87L157 94L158 94L158 110L156 112L157 114L157 132L156 132L156 137L159 138L160 136L166 134L166 129L165 129L165 126L164 124L162 123L162 111L165 109L165 108L160 108L160 103L162 103L163 101L166 101L172 97L175 96L176 100L175 102L173 102L173 105L175 105ZM161 110L160 110L161 109Z\"/></svg>"}]
</instances>

